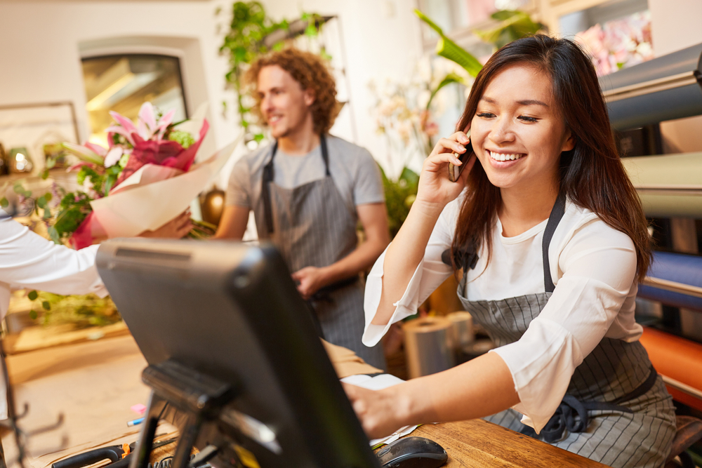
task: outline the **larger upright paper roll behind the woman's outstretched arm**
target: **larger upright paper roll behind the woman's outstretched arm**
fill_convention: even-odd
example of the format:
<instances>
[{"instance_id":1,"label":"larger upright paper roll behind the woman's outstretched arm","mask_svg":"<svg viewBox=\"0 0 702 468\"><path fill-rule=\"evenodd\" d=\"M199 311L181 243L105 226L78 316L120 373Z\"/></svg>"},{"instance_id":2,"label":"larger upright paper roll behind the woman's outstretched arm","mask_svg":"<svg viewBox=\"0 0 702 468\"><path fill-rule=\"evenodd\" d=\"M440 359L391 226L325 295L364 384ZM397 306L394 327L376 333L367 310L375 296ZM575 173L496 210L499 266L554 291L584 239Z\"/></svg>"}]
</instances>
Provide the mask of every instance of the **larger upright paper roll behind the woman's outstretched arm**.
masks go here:
<instances>
[{"instance_id":1,"label":"larger upright paper roll behind the woman's outstretched arm","mask_svg":"<svg viewBox=\"0 0 702 468\"><path fill-rule=\"evenodd\" d=\"M434 374L456 365L453 322L446 317L422 317L404 323L404 350L409 378Z\"/></svg>"}]
</instances>

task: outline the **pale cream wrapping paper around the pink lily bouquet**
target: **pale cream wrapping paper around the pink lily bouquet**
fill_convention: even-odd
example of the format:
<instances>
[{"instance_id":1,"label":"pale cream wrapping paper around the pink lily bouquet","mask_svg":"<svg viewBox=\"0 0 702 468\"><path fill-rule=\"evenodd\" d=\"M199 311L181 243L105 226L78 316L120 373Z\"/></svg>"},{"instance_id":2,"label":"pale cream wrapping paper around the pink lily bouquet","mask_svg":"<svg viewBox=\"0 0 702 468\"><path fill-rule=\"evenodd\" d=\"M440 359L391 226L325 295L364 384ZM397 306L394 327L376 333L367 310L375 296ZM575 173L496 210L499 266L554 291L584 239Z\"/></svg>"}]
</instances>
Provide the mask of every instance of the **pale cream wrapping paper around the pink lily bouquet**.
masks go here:
<instances>
[{"instance_id":1,"label":"pale cream wrapping paper around the pink lily bouquet","mask_svg":"<svg viewBox=\"0 0 702 468\"><path fill-rule=\"evenodd\" d=\"M243 138L244 133L241 133L236 140L187 173L133 186L91 201L95 220L111 238L133 237L146 230L158 229L183 213L192 199L213 182Z\"/></svg>"}]
</instances>

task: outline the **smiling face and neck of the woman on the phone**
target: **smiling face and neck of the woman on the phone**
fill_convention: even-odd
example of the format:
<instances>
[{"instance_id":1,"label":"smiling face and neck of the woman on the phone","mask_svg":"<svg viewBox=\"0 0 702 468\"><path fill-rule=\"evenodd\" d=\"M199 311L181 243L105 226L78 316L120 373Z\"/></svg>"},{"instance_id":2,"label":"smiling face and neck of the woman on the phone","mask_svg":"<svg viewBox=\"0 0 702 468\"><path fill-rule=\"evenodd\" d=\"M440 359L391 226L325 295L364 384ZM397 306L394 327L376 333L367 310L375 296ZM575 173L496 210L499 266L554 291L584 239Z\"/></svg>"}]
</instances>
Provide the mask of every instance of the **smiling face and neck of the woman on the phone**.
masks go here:
<instances>
[{"instance_id":1,"label":"smiling face and neck of the woman on the phone","mask_svg":"<svg viewBox=\"0 0 702 468\"><path fill-rule=\"evenodd\" d=\"M574 139L553 102L550 81L537 67L511 65L486 87L472 118L475 154L505 206L514 206L505 197L518 203L528 191L531 206L550 210L558 192L560 154L573 149ZM548 217L548 211L535 214Z\"/></svg>"}]
</instances>

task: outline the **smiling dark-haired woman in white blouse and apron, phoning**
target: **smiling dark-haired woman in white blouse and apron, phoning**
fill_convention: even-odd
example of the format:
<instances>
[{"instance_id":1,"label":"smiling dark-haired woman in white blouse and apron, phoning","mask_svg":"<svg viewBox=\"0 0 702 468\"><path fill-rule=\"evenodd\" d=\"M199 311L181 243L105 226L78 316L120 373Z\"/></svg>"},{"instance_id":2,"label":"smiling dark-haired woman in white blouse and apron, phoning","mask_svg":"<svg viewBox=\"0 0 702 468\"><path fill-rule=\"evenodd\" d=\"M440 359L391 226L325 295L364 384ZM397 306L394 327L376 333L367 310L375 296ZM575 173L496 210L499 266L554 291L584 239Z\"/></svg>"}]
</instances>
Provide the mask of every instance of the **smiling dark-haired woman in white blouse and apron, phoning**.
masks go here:
<instances>
[{"instance_id":1,"label":"smiling dark-haired woman in white blouse and apron, phoning","mask_svg":"<svg viewBox=\"0 0 702 468\"><path fill-rule=\"evenodd\" d=\"M498 345L380 392L348 386L369 435L484 417L612 467L661 467L675 413L634 321L646 223L595 69L571 41L508 44L425 161L417 199L366 286L364 343L447 276ZM457 182L469 138L476 157Z\"/></svg>"}]
</instances>

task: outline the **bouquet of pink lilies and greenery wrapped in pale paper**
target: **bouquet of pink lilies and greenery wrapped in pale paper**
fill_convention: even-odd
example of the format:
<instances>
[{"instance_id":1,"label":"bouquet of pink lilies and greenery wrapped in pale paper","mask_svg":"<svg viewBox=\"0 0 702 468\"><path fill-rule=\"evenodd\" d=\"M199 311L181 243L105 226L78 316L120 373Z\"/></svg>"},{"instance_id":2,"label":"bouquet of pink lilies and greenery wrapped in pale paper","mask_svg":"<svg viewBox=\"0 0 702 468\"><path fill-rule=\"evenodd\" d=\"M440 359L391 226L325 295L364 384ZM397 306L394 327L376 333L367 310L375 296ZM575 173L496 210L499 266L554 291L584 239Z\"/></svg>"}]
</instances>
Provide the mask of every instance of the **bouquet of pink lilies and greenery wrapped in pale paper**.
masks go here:
<instances>
[{"instance_id":1,"label":"bouquet of pink lilies and greenery wrapped in pale paper","mask_svg":"<svg viewBox=\"0 0 702 468\"><path fill-rule=\"evenodd\" d=\"M174 113L161 114L145 102L136 123L110 112L114 124L107 128L107 148L91 142L62 144L80 160L69 171L77 171L82 189L66 193L54 186L53 193L37 200L53 241L68 241L80 249L93 239L136 236L161 227L190 206L236 142L195 167L208 122L196 115L173 123ZM58 213L52 215L50 208Z\"/></svg>"}]
</instances>

